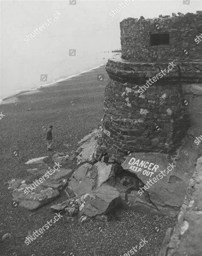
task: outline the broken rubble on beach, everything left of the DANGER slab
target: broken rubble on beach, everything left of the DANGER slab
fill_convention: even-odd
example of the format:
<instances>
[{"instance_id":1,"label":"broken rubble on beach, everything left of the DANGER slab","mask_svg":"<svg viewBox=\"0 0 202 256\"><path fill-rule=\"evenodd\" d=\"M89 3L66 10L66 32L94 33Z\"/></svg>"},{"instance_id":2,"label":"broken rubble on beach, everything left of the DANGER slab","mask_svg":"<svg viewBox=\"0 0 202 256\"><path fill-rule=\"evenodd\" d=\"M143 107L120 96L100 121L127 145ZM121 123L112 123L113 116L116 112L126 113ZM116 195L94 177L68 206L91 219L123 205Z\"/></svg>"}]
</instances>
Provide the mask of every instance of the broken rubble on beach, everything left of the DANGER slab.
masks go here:
<instances>
[{"instance_id":1,"label":"broken rubble on beach, everything left of the DANGER slab","mask_svg":"<svg viewBox=\"0 0 202 256\"><path fill-rule=\"evenodd\" d=\"M78 143L79 148L76 152L56 153L52 157L52 162L61 168L54 173L45 162L47 157L29 160L26 164L37 164L38 168L28 169L28 176L24 180L12 179L8 182L9 190L13 191L14 206L19 204L34 211L56 199L63 190L68 199L61 204L52 205L53 211L65 211L70 217L78 214L81 222L87 221L90 217L108 220L106 214L120 205L120 193L110 183L115 184L115 174L120 172L121 167L114 163L107 165L97 161L106 154L101 141L101 132L95 129ZM90 164L92 155L97 159L94 165ZM72 169L66 167L75 158L79 167L72 172Z\"/></svg>"}]
</instances>

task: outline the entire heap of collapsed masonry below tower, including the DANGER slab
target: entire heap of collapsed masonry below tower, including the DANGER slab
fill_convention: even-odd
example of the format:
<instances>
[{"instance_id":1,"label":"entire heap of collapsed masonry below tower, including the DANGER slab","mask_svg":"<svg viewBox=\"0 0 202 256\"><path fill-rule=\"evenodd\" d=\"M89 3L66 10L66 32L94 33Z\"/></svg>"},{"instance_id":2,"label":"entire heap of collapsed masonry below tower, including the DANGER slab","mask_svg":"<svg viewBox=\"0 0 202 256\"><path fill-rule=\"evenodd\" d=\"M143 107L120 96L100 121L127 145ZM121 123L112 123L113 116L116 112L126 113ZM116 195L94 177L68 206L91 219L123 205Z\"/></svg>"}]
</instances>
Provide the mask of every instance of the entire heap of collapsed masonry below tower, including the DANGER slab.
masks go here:
<instances>
[{"instance_id":1,"label":"entire heap of collapsed masonry below tower, including the DANGER slab","mask_svg":"<svg viewBox=\"0 0 202 256\"><path fill-rule=\"evenodd\" d=\"M58 197L61 189L65 187L68 199L61 204L52 205L51 209L66 211L70 217L78 215L81 222L89 220L90 217L107 220L106 214L120 205L142 213L176 216L183 203L192 175L193 159L196 157L196 145L192 140L188 140L178 150L177 155L170 157L167 154L131 153L120 165L107 157L103 151L103 154L99 155L101 161L94 159L94 164L91 164L93 152L98 145L97 140L100 140L98 134L102 133L95 130L79 142L76 156L79 159L79 167L74 173L70 169L61 168L60 172L43 182L29 195L25 195L23 191L32 182L30 177L25 181L17 179L9 182L9 188L14 191L14 201L19 202L22 207L35 210ZM189 154L186 155L185 152ZM71 160L75 155L72 154ZM65 153L56 153L52 161L66 164L69 158ZM150 186L147 191L142 190L144 193L140 195L139 191L144 188L147 177L152 172L157 176L160 170L164 170L173 162L176 165L174 170ZM142 171L142 168L145 170ZM38 178L47 169L50 167L43 163L27 172ZM143 172L146 173L145 176Z\"/></svg>"}]
</instances>

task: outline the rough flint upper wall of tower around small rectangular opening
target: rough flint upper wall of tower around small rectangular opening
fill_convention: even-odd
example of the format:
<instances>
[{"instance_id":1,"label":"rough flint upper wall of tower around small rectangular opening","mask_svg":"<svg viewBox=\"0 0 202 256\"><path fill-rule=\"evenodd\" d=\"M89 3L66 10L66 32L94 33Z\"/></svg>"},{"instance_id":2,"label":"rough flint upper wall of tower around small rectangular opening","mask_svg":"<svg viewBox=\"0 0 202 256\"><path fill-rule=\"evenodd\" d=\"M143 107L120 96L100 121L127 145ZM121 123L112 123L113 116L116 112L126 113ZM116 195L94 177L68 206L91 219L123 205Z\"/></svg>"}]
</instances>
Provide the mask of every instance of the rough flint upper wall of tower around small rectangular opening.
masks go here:
<instances>
[{"instance_id":1,"label":"rough flint upper wall of tower around small rectangular opening","mask_svg":"<svg viewBox=\"0 0 202 256\"><path fill-rule=\"evenodd\" d=\"M202 34L202 11L168 18L127 18L120 28L124 59L167 61L202 56L202 42L195 41ZM150 34L159 33L170 34L170 45L150 46Z\"/></svg>"}]
</instances>

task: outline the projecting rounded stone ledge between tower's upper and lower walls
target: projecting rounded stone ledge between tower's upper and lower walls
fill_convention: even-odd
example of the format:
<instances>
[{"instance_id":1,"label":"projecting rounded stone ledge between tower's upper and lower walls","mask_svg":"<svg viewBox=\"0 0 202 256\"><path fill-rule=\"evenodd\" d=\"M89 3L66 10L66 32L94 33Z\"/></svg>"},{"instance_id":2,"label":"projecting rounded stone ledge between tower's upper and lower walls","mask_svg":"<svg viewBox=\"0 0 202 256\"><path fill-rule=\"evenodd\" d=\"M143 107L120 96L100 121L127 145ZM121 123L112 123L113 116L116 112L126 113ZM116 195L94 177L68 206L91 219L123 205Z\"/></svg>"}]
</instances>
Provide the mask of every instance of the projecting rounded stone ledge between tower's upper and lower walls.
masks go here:
<instances>
[{"instance_id":1,"label":"projecting rounded stone ledge between tower's upper and lower walls","mask_svg":"<svg viewBox=\"0 0 202 256\"><path fill-rule=\"evenodd\" d=\"M155 77L161 70L167 70L170 63L172 62L125 60L121 58L121 54L115 54L108 60L106 71L111 79L118 82L142 85L147 78ZM176 66L164 77L157 80L155 85L164 82L202 83L202 59L182 60L180 62L179 60L173 60L173 64Z\"/></svg>"}]
</instances>

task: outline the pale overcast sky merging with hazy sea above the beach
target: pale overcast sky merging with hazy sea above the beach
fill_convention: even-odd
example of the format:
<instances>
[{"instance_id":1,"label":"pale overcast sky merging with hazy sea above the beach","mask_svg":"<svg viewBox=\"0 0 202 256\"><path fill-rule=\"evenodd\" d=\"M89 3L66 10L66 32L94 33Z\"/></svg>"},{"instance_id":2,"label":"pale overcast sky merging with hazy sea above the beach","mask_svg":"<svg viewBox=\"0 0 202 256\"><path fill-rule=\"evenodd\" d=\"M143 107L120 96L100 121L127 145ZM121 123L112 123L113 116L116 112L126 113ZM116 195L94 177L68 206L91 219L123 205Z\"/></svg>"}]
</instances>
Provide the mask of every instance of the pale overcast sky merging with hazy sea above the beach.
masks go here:
<instances>
[{"instance_id":1,"label":"pale overcast sky merging with hazy sea above the beach","mask_svg":"<svg viewBox=\"0 0 202 256\"><path fill-rule=\"evenodd\" d=\"M14 88L37 85L40 74L48 74L47 81L52 81L74 73L76 67L82 70L84 65L95 65L101 61L98 53L120 48L119 22L124 18L154 18L159 14L195 13L202 9L201 0L190 0L189 5L183 4L183 0L130 1L113 18L110 12L121 1L77 0L76 5L69 4L69 0L1 1L3 95L12 95ZM61 15L45 27L47 19L58 11ZM43 31L26 42L25 37L40 26ZM75 58L69 57L69 49L76 49Z\"/></svg>"}]
</instances>

